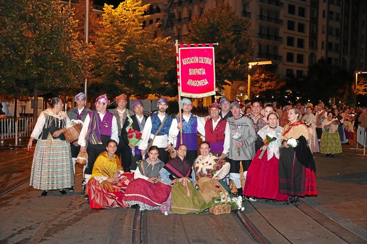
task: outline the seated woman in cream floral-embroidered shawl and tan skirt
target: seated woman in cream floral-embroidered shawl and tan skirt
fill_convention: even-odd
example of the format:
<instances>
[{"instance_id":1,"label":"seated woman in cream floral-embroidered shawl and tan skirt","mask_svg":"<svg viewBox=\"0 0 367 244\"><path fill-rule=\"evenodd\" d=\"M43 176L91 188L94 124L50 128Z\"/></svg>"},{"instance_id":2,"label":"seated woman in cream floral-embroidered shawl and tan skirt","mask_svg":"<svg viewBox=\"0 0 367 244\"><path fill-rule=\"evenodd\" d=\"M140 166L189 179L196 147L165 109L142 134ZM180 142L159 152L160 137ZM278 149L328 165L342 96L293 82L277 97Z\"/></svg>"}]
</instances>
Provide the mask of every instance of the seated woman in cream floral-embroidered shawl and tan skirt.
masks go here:
<instances>
[{"instance_id":1,"label":"seated woman in cream floral-embroidered shawl and tan skirt","mask_svg":"<svg viewBox=\"0 0 367 244\"><path fill-rule=\"evenodd\" d=\"M195 159L193 165L195 174L194 185L199 185L199 192L206 203L211 201L218 189L225 192L227 189L230 190L228 185L222 181L222 179L224 179L224 177L229 173L229 162L215 157L209 153L209 151L209 143L201 142L201 155Z\"/></svg>"}]
</instances>

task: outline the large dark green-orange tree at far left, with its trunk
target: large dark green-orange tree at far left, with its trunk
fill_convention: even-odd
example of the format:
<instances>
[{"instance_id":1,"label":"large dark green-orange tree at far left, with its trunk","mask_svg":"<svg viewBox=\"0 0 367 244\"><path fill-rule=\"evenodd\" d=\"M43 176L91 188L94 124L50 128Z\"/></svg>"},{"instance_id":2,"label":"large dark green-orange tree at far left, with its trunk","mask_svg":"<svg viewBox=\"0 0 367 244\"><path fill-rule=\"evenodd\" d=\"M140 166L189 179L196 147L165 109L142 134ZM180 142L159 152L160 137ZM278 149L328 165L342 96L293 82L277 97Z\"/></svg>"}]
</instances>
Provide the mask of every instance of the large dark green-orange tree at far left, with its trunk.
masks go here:
<instances>
[{"instance_id":1,"label":"large dark green-orange tree at far left, with its trunk","mask_svg":"<svg viewBox=\"0 0 367 244\"><path fill-rule=\"evenodd\" d=\"M0 1L0 94L29 97L75 89L84 78L86 45L57 0ZM37 109L34 109L37 115Z\"/></svg>"}]
</instances>

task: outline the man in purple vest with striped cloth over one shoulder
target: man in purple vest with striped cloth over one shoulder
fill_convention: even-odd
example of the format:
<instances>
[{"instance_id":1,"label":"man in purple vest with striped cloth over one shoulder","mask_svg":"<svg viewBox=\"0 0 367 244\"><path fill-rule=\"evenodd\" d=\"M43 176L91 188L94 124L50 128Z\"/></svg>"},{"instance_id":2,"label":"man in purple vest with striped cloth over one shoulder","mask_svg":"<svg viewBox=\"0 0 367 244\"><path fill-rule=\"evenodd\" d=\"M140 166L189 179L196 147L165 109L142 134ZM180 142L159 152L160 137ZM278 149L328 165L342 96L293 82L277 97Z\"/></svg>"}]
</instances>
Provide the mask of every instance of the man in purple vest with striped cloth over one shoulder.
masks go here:
<instances>
[{"instance_id":1,"label":"man in purple vest with striped cloth over one shoulder","mask_svg":"<svg viewBox=\"0 0 367 244\"><path fill-rule=\"evenodd\" d=\"M84 170L83 189L85 189L91 177L95 160L99 154L106 150L106 143L111 139L119 143L116 117L107 112L108 100L106 94L97 97L94 105L96 110L88 113L78 139L80 151L88 153L87 167ZM88 147L86 147L87 142ZM85 198L88 199L88 195Z\"/></svg>"}]
</instances>

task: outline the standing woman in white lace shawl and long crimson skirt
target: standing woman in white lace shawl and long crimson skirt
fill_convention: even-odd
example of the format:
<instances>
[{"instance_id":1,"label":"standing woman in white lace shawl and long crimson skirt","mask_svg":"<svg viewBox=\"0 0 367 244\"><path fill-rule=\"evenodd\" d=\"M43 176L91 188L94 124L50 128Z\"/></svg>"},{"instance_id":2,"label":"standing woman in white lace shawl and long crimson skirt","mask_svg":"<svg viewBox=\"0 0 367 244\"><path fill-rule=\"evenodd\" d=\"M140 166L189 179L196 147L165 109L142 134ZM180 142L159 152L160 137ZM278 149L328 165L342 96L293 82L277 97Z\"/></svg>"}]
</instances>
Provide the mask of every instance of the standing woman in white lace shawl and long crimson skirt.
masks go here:
<instances>
[{"instance_id":1,"label":"standing woman in white lace shawl and long crimson skirt","mask_svg":"<svg viewBox=\"0 0 367 244\"><path fill-rule=\"evenodd\" d=\"M288 200L288 195L279 193L279 147L283 128L277 125L278 115L276 113L270 113L266 119L269 125L257 132L256 145L260 150L257 151L248 168L243 195L265 198L265 203L269 203L269 199L277 203L277 200ZM264 145L267 135L276 138L268 146ZM263 151L260 159L259 156Z\"/></svg>"}]
</instances>

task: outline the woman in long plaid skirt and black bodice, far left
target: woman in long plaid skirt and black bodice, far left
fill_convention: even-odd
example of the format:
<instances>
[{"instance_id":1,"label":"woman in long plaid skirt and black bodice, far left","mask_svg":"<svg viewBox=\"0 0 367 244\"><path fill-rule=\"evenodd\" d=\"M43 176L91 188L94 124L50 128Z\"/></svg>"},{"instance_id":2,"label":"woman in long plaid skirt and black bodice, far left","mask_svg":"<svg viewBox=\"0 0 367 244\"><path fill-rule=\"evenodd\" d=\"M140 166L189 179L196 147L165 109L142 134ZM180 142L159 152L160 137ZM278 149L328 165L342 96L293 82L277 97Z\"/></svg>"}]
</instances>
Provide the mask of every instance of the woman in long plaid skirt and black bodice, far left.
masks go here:
<instances>
[{"instance_id":1,"label":"woman in long plaid skirt and black bodice, far left","mask_svg":"<svg viewBox=\"0 0 367 244\"><path fill-rule=\"evenodd\" d=\"M62 112L62 100L54 97L48 101L51 108L41 112L28 142L28 150L37 138L34 149L30 186L43 190L41 196L47 196L47 190L58 189L65 195L65 188L74 184L70 143L63 132L70 119Z\"/></svg>"}]
</instances>

